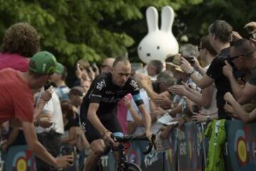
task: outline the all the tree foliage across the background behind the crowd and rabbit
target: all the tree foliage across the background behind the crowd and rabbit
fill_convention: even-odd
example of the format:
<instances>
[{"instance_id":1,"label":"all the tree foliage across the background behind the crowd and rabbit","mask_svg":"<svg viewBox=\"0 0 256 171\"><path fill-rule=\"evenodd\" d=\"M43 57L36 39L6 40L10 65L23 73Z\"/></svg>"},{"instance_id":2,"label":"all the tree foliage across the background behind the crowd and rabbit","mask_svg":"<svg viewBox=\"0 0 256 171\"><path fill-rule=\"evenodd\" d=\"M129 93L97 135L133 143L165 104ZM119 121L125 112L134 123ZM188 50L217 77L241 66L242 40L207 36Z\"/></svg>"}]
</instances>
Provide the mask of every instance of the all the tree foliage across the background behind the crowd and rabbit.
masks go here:
<instances>
[{"instance_id":1,"label":"all the tree foliage across the background behind the crowd and rabbit","mask_svg":"<svg viewBox=\"0 0 256 171\"><path fill-rule=\"evenodd\" d=\"M249 0L0 0L0 4L1 39L11 24L26 21L40 33L42 49L69 65L80 58L101 61L126 52L138 61L136 48L147 32L148 6L173 7L173 31L180 43L184 35L197 43L215 19L225 19L243 31L256 13L256 2Z\"/></svg>"}]
</instances>

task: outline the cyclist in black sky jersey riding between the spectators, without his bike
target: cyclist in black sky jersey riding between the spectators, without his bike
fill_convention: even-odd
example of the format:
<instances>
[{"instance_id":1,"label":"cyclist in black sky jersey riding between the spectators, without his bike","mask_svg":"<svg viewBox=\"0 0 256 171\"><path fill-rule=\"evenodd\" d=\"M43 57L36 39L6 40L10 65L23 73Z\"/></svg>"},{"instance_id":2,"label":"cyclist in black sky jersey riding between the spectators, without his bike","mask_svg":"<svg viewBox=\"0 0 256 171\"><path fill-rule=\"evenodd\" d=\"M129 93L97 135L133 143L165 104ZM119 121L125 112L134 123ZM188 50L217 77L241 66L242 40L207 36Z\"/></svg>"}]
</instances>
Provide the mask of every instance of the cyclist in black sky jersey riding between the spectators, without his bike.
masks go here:
<instances>
[{"instance_id":1,"label":"cyclist in black sky jersey riding between the spectators, without his bike","mask_svg":"<svg viewBox=\"0 0 256 171\"><path fill-rule=\"evenodd\" d=\"M131 93L142 113L146 137L151 138L149 131L151 118L139 95L137 82L130 78L131 64L124 57L118 57L113 63L112 72L102 73L92 81L87 95L82 101L80 118L85 136L90 142L92 151L87 157L84 170L95 170L97 160L105 153L108 144L114 144L111 134L122 132L117 120L118 101ZM117 158L117 156L116 156Z\"/></svg>"}]
</instances>

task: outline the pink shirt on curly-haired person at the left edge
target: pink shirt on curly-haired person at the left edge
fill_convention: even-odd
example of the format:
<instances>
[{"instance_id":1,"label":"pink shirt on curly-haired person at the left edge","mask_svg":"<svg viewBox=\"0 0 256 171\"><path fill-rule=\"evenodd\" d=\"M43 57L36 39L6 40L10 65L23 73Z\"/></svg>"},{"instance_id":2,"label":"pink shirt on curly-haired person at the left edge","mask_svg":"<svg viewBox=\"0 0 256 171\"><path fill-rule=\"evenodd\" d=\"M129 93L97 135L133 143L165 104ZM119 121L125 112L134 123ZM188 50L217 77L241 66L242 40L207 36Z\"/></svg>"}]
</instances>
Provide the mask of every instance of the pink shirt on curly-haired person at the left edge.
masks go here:
<instances>
[{"instance_id":1,"label":"pink shirt on curly-haired person at the left edge","mask_svg":"<svg viewBox=\"0 0 256 171\"><path fill-rule=\"evenodd\" d=\"M14 70L28 71L29 59L18 55L17 53L0 53L0 70L4 68L13 68Z\"/></svg>"}]
</instances>

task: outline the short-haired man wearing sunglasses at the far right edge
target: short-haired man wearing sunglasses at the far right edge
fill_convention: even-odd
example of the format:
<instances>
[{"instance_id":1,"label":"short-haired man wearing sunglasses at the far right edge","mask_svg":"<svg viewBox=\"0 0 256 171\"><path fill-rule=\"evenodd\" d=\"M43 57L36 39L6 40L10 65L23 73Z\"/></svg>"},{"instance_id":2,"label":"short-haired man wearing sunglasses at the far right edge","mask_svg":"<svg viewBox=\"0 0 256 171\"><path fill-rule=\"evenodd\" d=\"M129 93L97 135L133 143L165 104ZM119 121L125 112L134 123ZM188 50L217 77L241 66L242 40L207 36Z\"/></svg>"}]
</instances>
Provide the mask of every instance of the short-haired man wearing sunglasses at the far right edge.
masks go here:
<instances>
[{"instance_id":1,"label":"short-haired man wearing sunglasses at the far right edge","mask_svg":"<svg viewBox=\"0 0 256 171\"><path fill-rule=\"evenodd\" d=\"M235 57L234 57L235 56ZM255 81L255 66L256 66L256 51L255 45L246 39L240 39L233 43L230 48L230 60L232 61L235 68L238 70L251 71L250 78L245 86L242 88L238 81L235 80L233 76L233 69L229 63L223 67L223 73L228 77L233 90L233 95L231 93L225 93L225 100L230 103L225 105L225 110L229 113L233 113L235 117L242 119L245 122L250 122L255 120L256 114L255 110L247 110L246 106L241 106L240 104L250 103L254 100L256 93L256 81ZM236 100L235 100L236 99ZM253 101L252 101L253 103ZM245 109L244 109L245 108ZM255 108L255 106L253 106Z\"/></svg>"}]
</instances>

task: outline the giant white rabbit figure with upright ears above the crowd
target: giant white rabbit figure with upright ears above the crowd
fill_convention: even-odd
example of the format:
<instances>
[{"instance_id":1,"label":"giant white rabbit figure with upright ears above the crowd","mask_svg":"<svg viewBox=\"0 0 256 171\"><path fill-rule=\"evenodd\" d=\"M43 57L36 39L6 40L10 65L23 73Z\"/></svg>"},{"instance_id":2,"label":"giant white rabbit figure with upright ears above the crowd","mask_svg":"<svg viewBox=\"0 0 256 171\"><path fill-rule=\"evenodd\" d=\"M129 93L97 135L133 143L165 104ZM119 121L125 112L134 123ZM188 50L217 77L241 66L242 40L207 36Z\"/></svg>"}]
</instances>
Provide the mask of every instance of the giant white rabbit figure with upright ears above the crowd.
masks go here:
<instances>
[{"instance_id":1,"label":"giant white rabbit figure with upright ears above the crowd","mask_svg":"<svg viewBox=\"0 0 256 171\"><path fill-rule=\"evenodd\" d=\"M158 26L158 12L153 6L146 9L146 21L149 32L138 46L139 58L144 63L156 59L164 61L166 56L178 53L178 42L171 31L174 23L174 10L164 6L161 11L161 29Z\"/></svg>"}]
</instances>

